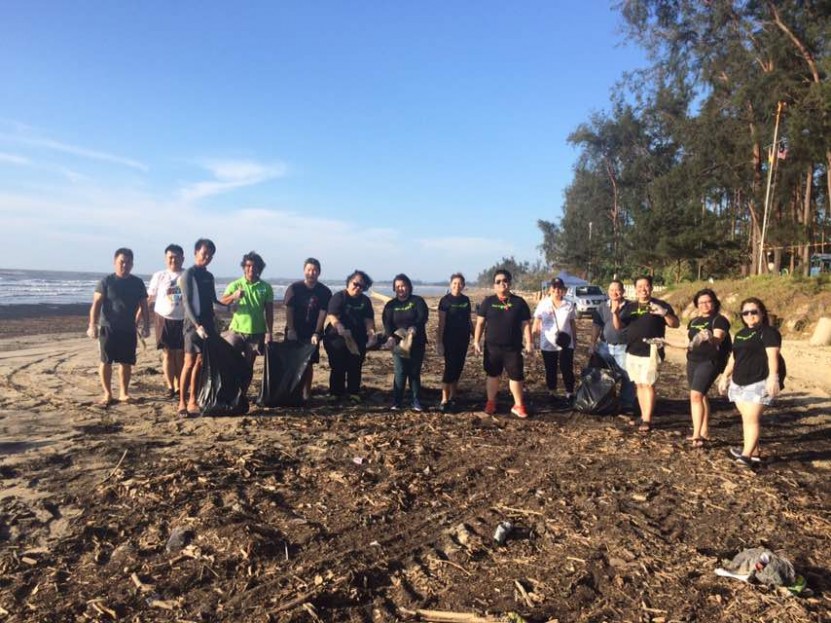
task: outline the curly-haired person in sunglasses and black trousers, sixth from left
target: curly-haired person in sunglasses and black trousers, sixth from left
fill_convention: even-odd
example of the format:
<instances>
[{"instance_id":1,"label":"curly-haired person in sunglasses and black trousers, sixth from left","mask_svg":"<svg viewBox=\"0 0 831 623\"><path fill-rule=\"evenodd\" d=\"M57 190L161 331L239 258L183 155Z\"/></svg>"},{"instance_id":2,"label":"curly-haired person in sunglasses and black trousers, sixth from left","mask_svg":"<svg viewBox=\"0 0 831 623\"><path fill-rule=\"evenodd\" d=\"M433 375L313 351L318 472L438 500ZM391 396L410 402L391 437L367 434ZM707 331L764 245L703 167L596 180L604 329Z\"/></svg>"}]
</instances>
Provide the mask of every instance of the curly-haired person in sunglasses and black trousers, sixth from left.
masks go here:
<instances>
[{"instance_id":1,"label":"curly-haired person in sunglasses and black trousers, sixth from left","mask_svg":"<svg viewBox=\"0 0 831 623\"><path fill-rule=\"evenodd\" d=\"M329 394L360 402L366 349L375 344L375 311L364 294L372 279L362 270L346 278L346 288L332 295L323 346L329 356Z\"/></svg>"}]
</instances>

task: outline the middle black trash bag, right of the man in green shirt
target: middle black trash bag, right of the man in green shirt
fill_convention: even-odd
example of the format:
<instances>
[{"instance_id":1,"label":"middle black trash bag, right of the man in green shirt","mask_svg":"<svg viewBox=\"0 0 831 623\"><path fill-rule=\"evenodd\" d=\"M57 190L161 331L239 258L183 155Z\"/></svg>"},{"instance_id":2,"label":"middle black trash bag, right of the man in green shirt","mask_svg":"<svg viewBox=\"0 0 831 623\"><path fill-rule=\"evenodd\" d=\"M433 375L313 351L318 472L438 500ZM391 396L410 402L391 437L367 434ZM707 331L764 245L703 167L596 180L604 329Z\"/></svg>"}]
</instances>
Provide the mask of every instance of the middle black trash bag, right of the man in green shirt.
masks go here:
<instances>
[{"instance_id":1,"label":"middle black trash bag, right of the man in green shirt","mask_svg":"<svg viewBox=\"0 0 831 623\"><path fill-rule=\"evenodd\" d=\"M303 404L303 373L317 350L308 342L266 344L263 386L257 404L261 407L295 407Z\"/></svg>"}]
</instances>

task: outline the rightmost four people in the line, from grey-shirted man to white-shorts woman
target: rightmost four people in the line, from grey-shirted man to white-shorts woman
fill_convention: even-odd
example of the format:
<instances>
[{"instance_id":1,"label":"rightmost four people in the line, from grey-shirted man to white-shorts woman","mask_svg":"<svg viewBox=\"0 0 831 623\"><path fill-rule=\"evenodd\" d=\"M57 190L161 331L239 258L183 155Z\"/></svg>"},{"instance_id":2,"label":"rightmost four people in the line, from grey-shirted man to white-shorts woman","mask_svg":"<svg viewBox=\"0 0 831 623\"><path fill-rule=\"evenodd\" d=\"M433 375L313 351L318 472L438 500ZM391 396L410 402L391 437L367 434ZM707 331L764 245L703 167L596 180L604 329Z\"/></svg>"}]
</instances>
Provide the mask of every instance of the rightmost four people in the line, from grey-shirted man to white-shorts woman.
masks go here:
<instances>
[{"instance_id":1,"label":"rightmost four people in the line, from grey-shirted man to white-shorts woman","mask_svg":"<svg viewBox=\"0 0 831 623\"><path fill-rule=\"evenodd\" d=\"M655 383L664 359L666 327L680 321L672 307L652 296L652 279L635 281L635 300L627 301L623 283L613 281L609 300L593 317L590 350L622 373L621 406L639 410L638 430L649 432L655 410ZM759 421L782 388L782 337L771 326L764 303L755 297L741 302L742 328L733 338L730 321L721 314L721 302L710 288L693 296L696 315L687 325L687 382L695 448L710 441L710 402L707 394L718 381L721 394L735 403L742 417L743 445L730 448L736 463L753 467L761 461ZM637 398L637 403L635 402Z\"/></svg>"}]
</instances>

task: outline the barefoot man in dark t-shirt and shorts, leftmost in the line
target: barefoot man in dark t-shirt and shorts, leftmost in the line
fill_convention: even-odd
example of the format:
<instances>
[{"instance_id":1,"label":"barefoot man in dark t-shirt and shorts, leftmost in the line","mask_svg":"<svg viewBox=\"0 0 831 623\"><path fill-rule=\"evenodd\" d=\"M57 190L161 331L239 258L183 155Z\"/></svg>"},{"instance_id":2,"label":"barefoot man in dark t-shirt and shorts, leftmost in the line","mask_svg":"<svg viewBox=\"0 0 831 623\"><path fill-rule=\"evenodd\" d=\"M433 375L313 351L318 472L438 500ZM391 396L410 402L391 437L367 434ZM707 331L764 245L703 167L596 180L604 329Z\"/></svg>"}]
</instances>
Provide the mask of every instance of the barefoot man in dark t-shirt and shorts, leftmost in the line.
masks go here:
<instances>
[{"instance_id":1,"label":"barefoot man in dark t-shirt and shorts, leftmost in the line","mask_svg":"<svg viewBox=\"0 0 831 623\"><path fill-rule=\"evenodd\" d=\"M95 287L92 307L89 310L87 335L98 339L101 364L98 374L104 397L98 403L102 407L113 404L113 363L119 364L120 402L132 402L130 377L136 363L136 321L141 311L142 337L150 336L150 315L147 307L147 289L144 282L131 275L133 252L121 248L113 258L115 272L104 277Z\"/></svg>"}]
</instances>

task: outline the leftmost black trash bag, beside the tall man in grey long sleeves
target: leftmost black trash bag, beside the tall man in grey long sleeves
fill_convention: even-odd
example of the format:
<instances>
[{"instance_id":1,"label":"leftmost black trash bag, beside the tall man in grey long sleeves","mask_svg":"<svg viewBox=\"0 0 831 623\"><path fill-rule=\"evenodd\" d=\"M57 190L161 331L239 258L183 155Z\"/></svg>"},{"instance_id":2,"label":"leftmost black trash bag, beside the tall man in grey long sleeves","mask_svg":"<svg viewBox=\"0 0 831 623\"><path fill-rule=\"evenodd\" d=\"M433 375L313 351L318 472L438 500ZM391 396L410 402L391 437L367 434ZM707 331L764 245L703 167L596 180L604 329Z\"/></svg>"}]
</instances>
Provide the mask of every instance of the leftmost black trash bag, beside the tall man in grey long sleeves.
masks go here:
<instances>
[{"instance_id":1,"label":"leftmost black trash bag, beside the tall man in grey long sleeves","mask_svg":"<svg viewBox=\"0 0 831 623\"><path fill-rule=\"evenodd\" d=\"M202 415L248 413L243 389L251 383L251 369L243 356L217 335L209 335L204 342L199 379L197 402Z\"/></svg>"}]
</instances>

